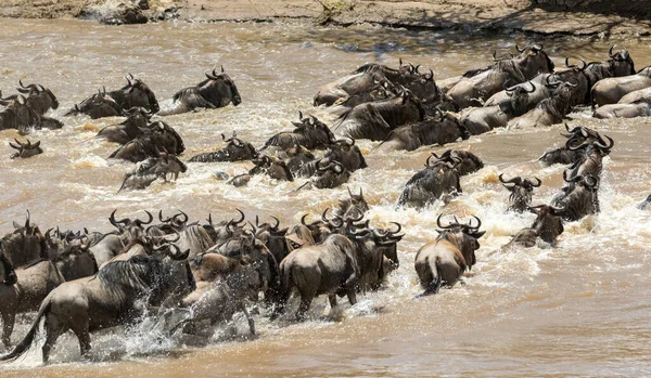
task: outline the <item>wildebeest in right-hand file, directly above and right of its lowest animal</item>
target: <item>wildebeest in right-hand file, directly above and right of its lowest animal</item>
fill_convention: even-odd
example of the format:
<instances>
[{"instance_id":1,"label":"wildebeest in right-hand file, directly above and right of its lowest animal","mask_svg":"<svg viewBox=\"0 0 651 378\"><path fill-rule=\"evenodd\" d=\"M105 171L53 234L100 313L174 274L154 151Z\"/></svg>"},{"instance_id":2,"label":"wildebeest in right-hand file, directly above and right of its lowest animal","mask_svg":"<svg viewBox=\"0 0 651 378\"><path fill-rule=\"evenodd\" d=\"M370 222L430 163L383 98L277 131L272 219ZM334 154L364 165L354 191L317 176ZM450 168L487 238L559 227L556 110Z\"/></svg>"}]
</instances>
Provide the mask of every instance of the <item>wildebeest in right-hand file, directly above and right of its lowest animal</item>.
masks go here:
<instances>
[{"instance_id":1,"label":"wildebeest in right-hand file, directly above and right of its lowest animal","mask_svg":"<svg viewBox=\"0 0 651 378\"><path fill-rule=\"evenodd\" d=\"M567 178L566 173L563 172L563 180L567 185L552 198L551 206L564 209L563 220L570 222L599 212L599 179L592 175Z\"/></svg>"}]
</instances>

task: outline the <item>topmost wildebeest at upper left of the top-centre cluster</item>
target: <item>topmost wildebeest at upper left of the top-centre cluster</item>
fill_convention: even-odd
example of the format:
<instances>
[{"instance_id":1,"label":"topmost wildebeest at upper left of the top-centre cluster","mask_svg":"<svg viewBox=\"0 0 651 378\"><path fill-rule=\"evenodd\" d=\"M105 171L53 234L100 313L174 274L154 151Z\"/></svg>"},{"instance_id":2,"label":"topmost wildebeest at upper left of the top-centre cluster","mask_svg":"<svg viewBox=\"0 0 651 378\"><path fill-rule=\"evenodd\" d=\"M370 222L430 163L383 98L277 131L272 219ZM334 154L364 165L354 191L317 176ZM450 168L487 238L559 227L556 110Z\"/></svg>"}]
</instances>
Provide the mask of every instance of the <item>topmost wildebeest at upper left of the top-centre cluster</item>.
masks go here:
<instances>
[{"instance_id":1,"label":"topmost wildebeest at upper left of the top-centre cluster","mask_svg":"<svg viewBox=\"0 0 651 378\"><path fill-rule=\"evenodd\" d=\"M383 79L395 87L406 87L418 76L418 67L411 64L403 65L401 60L398 69L380 64L365 64L349 75L321 87L319 93L315 96L314 105L324 104L331 106L352 96L369 93L373 90L375 83L381 82Z\"/></svg>"}]
</instances>

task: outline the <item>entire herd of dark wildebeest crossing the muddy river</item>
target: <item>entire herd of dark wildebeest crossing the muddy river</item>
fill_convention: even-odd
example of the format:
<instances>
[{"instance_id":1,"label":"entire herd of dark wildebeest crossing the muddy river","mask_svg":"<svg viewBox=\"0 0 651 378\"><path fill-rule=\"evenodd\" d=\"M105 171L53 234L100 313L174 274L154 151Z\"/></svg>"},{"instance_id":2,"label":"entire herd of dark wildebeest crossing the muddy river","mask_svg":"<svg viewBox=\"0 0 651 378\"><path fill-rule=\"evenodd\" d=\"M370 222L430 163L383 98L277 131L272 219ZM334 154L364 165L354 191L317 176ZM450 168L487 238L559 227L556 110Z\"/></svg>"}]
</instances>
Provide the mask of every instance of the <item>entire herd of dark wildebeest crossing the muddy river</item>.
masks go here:
<instances>
[{"instance_id":1,"label":"entire herd of dark wildebeest crossing the muddy river","mask_svg":"<svg viewBox=\"0 0 651 378\"><path fill-rule=\"evenodd\" d=\"M651 114L650 69L636 71L627 51L608 52L603 62L571 65L554 71L554 64L539 44L516 55L498 58L486 68L459 77L434 80L431 69L403 64L397 69L366 64L348 76L323 86L315 106L329 107L337 117L329 127L323 120L298 113L294 129L270 136L256 148L238 138L221 134L224 147L199 154L183 162L186 147L179 133L154 115L166 116L196 108L218 108L242 102L233 80L213 69L194 87L178 91L171 105L161 108L153 91L128 74L118 90L102 88L66 116L91 118L124 116L95 138L120 146L108 158L132 161L136 168L119 191L144 190L158 179L176 180L192 164L250 160L255 166L233 178L218 175L234 186L246 185L252 175L267 174L278 181L307 179L298 186L333 188L348 182L352 172L369 169L356 140L379 141L372 153L413 151L469 139L496 128L531 128L560 123L575 106L598 106L595 117L634 117ZM41 84L24 86L18 94L2 97L0 130L22 134L56 129L63 123L46 116L59 102ZM647 112L647 113L644 113ZM614 146L608 135L586 127L566 127L560 148L540 157L542 165L567 165L565 186L549 204L534 205L537 178L499 174L510 192L508 211L531 211L531 227L513 235L503 248L527 248L539 242L556 246L563 222L599 212L602 160ZM339 136L335 135L339 133ZM40 142L10 143L12 158L43 153ZM448 149L432 154L424 168L404 185L396 206L426 209L462 193L460 178L484 164L467 152ZM299 297L295 316L303 320L312 300L327 295L335 308L339 297L350 304L359 294L382 289L386 276L398 268L398 243L405 234L397 222L373 225L366 218L369 205L363 193L348 190L349 198L326 209L316 220L303 216L299 224L280 226L280 220L232 219L191 222L182 211L165 217L144 211L145 219L116 218L108 233L61 231L44 233L30 219L14 222L15 231L0 239L0 315L2 343L12 346L16 314L37 312L23 340L0 361L12 361L35 342L41 324L46 339L43 362L58 338L72 330L81 355L88 355L90 333L156 317L169 309L189 309L192 316L178 325L193 333L201 322L217 324L242 312L250 330L255 324L247 308L257 303L271 320L283 316L292 295ZM641 207L647 207L649 199ZM447 218L444 219L444 218ZM414 269L424 291L436 294L454 286L476 263L475 251L482 221L477 217L436 219L438 237L422 246ZM390 224L388 226L386 224Z\"/></svg>"}]
</instances>

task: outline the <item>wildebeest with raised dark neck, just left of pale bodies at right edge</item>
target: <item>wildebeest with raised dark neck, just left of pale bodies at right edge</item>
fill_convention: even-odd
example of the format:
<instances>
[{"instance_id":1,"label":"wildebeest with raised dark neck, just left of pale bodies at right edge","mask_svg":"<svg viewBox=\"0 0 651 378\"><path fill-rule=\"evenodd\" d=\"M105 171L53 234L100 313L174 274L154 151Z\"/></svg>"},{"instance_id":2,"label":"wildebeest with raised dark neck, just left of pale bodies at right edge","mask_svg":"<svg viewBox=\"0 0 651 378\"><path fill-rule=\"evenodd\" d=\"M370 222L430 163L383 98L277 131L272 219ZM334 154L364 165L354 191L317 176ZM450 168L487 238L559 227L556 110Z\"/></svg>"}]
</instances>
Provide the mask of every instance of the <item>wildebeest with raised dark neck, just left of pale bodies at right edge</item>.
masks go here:
<instances>
[{"instance_id":1,"label":"wildebeest with raised dark neck, just left of pale bodies at right edge","mask_svg":"<svg viewBox=\"0 0 651 378\"><path fill-rule=\"evenodd\" d=\"M542 100L525 115L510 120L509 128L526 129L551 126L560 123L565 118L571 109L570 99L577 84L566 81L550 82L549 84L557 87L551 97Z\"/></svg>"}]
</instances>

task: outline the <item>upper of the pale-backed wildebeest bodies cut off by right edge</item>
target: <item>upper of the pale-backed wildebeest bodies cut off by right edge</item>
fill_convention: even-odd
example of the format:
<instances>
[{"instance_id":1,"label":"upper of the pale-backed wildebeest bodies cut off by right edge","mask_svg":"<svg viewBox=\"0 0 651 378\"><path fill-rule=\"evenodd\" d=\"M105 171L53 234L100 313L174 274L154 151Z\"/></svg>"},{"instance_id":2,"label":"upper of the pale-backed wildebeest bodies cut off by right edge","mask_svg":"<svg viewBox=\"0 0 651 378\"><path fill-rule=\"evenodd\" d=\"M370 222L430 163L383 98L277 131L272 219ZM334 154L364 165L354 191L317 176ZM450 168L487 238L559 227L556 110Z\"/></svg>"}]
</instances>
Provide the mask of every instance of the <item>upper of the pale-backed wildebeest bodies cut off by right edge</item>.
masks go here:
<instances>
[{"instance_id":1,"label":"upper of the pale-backed wildebeest bodies cut off by right edge","mask_svg":"<svg viewBox=\"0 0 651 378\"><path fill-rule=\"evenodd\" d=\"M651 87L651 66L635 75L605 78L592 86L590 93L596 106L616 104L626 94Z\"/></svg>"}]
</instances>

